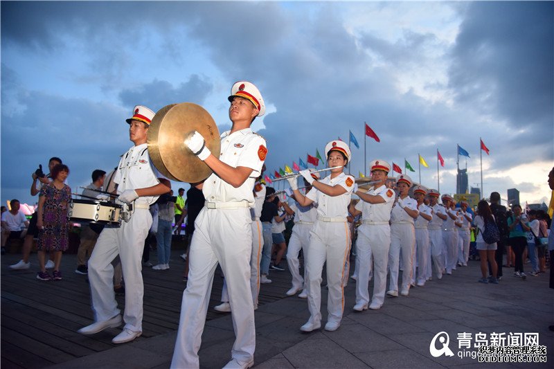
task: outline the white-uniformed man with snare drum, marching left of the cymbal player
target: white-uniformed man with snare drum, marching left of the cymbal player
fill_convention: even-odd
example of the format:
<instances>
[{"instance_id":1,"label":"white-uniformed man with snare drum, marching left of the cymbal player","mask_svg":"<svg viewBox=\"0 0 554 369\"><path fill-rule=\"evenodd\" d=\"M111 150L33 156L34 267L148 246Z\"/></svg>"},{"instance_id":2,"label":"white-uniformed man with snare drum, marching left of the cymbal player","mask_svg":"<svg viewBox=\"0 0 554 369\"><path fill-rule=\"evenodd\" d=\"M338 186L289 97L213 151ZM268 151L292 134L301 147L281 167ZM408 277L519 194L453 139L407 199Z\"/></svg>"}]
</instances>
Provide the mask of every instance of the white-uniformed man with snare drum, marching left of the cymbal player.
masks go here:
<instances>
[{"instance_id":1,"label":"white-uniformed man with snare drum, marching left of the cymbal player","mask_svg":"<svg viewBox=\"0 0 554 369\"><path fill-rule=\"evenodd\" d=\"M113 181L117 184L119 204L129 207L132 215L120 227L102 230L89 259L95 322L78 330L81 334L94 334L121 324L112 280L114 267L111 265L117 255L121 260L126 287L125 327L111 340L112 343L132 341L142 334L144 285L141 260L144 240L152 225L148 209L159 195L171 190L170 182L154 168L148 154L146 138L152 118L154 111L139 105L134 107L133 116L127 119L129 138L134 146L121 157Z\"/></svg>"}]
</instances>

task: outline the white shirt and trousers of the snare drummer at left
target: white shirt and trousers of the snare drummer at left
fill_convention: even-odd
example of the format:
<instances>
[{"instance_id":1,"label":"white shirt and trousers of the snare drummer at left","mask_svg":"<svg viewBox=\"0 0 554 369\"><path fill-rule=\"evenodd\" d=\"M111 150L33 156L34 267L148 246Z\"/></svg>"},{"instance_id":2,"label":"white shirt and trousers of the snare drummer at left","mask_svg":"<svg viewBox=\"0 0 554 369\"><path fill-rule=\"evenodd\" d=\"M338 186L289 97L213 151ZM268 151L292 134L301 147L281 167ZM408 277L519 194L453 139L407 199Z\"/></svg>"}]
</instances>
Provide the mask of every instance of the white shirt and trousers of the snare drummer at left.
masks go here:
<instances>
[{"instance_id":1,"label":"white shirt and trousers of the snare drummer at left","mask_svg":"<svg viewBox=\"0 0 554 369\"><path fill-rule=\"evenodd\" d=\"M156 186L158 178L165 178L154 168L148 155L148 145L133 146L119 161L114 177L117 192ZM107 321L119 314L114 294L114 267L111 261L120 256L125 279L125 328L142 332L144 285L141 259L144 240L152 225L148 208L157 196L137 198L129 222L118 228L105 227L89 259L89 281L95 320Z\"/></svg>"}]
</instances>

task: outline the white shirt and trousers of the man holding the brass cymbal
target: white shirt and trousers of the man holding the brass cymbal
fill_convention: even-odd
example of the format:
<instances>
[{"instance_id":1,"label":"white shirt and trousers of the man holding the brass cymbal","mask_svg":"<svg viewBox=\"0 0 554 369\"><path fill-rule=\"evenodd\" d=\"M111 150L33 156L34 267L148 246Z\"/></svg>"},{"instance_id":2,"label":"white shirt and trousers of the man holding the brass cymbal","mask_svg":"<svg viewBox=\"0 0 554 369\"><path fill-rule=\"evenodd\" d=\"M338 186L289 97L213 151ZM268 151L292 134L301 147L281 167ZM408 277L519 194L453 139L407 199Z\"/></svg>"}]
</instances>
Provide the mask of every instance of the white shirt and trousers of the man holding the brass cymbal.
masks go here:
<instances>
[{"instance_id":1,"label":"white shirt and trousers of the man holding the brass cymbal","mask_svg":"<svg viewBox=\"0 0 554 369\"><path fill-rule=\"evenodd\" d=\"M252 189L267 153L265 139L250 128L224 132L220 160L233 168L253 169L242 186L234 188L213 173L204 181L206 206L195 222L190 244L190 271L181 303L181 318L171 368L198 368L198 350L210 301L213 275L219 262L229 289L235 330L233 359L253 361L256 348L254 309L249 278L252 249Z\"/></svg>"}]
</instances>

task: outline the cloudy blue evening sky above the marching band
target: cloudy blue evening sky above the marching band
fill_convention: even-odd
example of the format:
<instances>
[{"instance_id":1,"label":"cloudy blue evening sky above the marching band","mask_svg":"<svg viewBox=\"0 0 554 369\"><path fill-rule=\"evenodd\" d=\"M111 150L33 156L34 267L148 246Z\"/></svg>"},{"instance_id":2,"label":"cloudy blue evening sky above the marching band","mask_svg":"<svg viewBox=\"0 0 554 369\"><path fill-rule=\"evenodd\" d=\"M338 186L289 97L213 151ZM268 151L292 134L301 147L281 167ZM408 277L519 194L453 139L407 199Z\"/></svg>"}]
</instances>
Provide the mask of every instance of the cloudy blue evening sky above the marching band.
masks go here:
<instances>
[{"instance_id":1,"label":"cloudy blue evening sky above the marching band","mask_svg":"<svg viewBox=\"0 0 554 369\"><path fill-rule=\"evenodd\" d=\"M440 192L452 194L460 145L471 187L483 156L485 197L517 188L522 204L550 200L551 1L1 1L0 13L2 204L35 204L30 176L51 156L73 192L109 172L132 146L134 105L194 102L230 129L238 80L265 100L252 127L270 172L351 131L356 177L371 160L406 159L436 188L438 150ZM380 138L365 150L364 123Z\"/></svg>"}]
</instances>

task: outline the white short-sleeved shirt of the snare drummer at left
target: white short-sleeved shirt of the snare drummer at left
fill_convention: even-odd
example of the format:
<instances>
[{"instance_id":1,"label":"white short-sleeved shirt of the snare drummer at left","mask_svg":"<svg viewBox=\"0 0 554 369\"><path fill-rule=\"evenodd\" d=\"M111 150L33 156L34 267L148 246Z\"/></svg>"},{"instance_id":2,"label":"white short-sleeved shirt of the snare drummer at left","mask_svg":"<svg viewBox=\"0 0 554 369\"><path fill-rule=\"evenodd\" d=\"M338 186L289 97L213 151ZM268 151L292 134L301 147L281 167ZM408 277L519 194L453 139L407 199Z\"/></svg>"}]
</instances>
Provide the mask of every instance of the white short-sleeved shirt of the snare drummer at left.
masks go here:
<instances>
[{"instance_id":1,"label":"white short-sleeved shirt of the snare drummer at left","mask_svg":"<svg viewBox=\"0 0 554 369\"><path fill-rule=\"evenodd\" d=\"M148 188L156 186L158 178L165 178L152 164L148 154L148 145L133 146L119 161L114 183L118 184L117 193L137 188ZM137 204L154 204L159 196L141 196L135 200Z\"/></svg>"}]
</instances>

